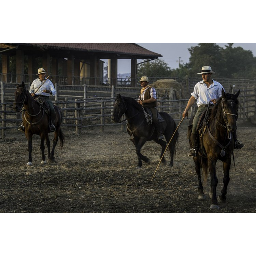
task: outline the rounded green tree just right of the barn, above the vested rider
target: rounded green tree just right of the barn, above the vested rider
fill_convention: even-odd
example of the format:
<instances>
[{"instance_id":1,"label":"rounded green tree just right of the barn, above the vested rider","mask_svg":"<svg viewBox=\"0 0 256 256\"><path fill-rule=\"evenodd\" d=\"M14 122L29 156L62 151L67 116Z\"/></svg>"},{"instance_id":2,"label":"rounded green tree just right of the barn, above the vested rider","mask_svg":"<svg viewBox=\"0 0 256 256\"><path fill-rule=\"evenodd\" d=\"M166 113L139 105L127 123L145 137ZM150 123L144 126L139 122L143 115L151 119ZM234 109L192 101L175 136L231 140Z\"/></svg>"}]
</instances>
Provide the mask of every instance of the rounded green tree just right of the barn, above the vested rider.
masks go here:
<instances>
[{"instance_id":1,"label":"rounded green tree just right of the barn, above the vested rider","mask_svg":"<svg viewBox=\"0 0 256 256\"><path fill-rule=\"evenodd\" d=\"M143 60L146 61L146 60ZM155 59L141 63L138 66L138 77L148 76L148 77L170 77L171 68L162 59Z\"/></svg>"}]
</instances>

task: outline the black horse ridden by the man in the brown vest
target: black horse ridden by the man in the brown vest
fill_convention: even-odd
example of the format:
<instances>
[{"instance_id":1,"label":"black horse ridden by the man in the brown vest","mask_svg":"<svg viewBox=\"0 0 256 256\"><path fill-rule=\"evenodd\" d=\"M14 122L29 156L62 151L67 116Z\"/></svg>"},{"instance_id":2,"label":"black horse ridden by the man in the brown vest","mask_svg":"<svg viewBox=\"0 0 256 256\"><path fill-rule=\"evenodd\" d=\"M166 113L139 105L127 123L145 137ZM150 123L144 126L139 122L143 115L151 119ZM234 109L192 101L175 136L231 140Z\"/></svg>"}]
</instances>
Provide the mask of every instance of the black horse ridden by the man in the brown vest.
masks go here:
<instances>
[{"instance_id":1,"label":"black horse ridden by the man in the brown vest","mask_svg":"<svg viewBox=\"0 0 256 256\"><path fill-rule=\"evenodd\" d=\"M142 167L142 160L146 163L150 163L150 159L141 154L141 148L146 143L146 141L153 140L162 147L160 158L165 152L166 142L163 140L158 140L158 134L155 129L154 124L148 124L145 118L145 113L142 106L133 98L117 95L114 110L112 115L112 120L115 123L120 122L122 115L125 114L127 118L127 132L130 135L130 139L136 148L136 154L138 156L138 166L137 169ZM166 140L169 142L177 126L166 112L159 112L159 114L164 119L163 131ZM179 133L176 132L173 136L172 141L169 144L170 151L170 163L169 166L173 166L173 156L175 154L175 145L178 140ZM166 163L166 159L162 158L162 163Z\"/></svg>"}]
</instances>

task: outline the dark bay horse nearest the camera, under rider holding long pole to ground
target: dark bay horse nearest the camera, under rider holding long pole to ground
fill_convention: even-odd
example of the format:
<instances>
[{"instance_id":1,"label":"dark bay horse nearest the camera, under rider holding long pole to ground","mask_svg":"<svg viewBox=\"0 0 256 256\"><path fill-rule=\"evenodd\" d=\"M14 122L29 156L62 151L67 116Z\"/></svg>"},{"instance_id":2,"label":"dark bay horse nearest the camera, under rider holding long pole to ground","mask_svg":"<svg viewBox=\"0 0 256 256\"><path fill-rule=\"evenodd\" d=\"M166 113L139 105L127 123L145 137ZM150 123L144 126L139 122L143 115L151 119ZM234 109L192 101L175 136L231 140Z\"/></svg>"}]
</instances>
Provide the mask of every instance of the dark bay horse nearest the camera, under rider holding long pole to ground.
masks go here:
<instances>
[{"instance_id":1,"label":"dark bay horse nearest the camera, under rider holding long pole to ground","mask_svg":"<svg viewBox=\"0 0 256 256\"><path fill-rule=\"evenodd\" d=\"M207 178L208 170L211 175L211 190L209 196L212 199L211 209L219 209L218 202L226 202L227 187L229 183L229 170L231 165L231 156L234 150L233 132L236 131L236 121L238 118L238 96L240 90L234 94L225 93L222 89L222 97L220 97L212 108L208 121L205 122L204 131L200 134L200 147L203 146L205 155L202 157L197 154L193 157L195 169L198 176L198 199L205 199L203 186L201 182L201 167ZM191 121L192 119L190 119ZM188 138L191 148L190 134L191 126L188 128ZM216 176L216 162L223 162L223 188L221 194L216 196L216 187L218 179ZM201 162L202 161L202 162Z\"/></svg>"}]
</instances>

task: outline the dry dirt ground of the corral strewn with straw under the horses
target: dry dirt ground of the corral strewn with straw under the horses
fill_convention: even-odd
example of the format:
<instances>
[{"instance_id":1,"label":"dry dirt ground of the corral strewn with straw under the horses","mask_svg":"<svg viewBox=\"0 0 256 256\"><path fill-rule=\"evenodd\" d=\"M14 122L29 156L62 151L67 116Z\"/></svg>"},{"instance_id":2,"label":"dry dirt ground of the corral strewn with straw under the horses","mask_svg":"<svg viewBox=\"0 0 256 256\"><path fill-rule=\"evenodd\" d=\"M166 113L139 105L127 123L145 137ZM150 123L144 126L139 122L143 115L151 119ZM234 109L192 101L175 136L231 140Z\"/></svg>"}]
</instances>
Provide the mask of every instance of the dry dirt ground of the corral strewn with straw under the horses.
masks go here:
<instances>
[{"instance_id":1,"label":"dry dirt ground of the corral strewn with straw under the horses","mask_svg":"<svg viewBox=\"0 0 256 256\"><path fill-rule=\"evenodd\" d=\"M205 200L198 200L194 161L187 157L188 120L179 128L174 166L160 165L160 146L147 142L142 153L151 159L136 169L135 148L119 126L87 129L76 136L63 127L62 150L56 162L41 166L40 140L33 137L33 167L28 168L27 140L17 130L0 139L1 213L255 213L256 126L238 122L238 139L245 146L234 151L226 203L211 210L210 177L204 186ZM51 142L52 142L51 134ZM169 160L169 152L165 154ZM217 162L219 194L223 186L222 162Z\"/></svg>"}]
</instances>

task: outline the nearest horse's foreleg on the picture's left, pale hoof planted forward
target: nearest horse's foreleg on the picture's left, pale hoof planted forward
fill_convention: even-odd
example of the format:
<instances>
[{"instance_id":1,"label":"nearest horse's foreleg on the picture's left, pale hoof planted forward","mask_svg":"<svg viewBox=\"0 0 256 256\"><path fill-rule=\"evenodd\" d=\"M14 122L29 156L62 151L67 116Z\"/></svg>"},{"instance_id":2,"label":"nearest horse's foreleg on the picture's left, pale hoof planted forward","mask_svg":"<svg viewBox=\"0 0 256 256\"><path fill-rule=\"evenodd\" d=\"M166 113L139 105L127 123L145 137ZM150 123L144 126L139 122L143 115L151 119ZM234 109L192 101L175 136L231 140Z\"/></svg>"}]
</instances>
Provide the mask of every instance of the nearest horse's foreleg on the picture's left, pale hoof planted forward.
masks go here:
<instances>
[{"instance_id":1,"label":"nearest horse's foreleg on the picture's left, pale hoof planted forward","mask_svg":"<svg viewBox=\"0 0 256 256\"><path fill-rule=\"evenodd\" d=\"M211 191L212 191L212 204L211 209L219 209L217 196L216 196L216 187L218 184L218 179L216 176L216 159L210 158L208 156L208 166L211 174Z\"/></svg>"}]
</instances>

